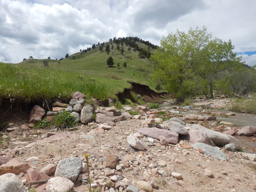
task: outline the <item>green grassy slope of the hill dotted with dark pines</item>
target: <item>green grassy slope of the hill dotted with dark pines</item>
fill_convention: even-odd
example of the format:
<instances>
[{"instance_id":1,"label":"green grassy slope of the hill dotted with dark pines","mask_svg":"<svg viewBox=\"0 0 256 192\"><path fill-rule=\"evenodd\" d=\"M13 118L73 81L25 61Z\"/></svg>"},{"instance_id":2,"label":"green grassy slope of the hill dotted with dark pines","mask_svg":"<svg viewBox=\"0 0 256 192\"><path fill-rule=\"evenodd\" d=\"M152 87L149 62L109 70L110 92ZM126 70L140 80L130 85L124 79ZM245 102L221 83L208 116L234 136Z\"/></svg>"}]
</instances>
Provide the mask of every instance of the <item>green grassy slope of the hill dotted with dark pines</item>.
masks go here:
<instances>
[{"instance_id":1,"label":"green grassy slope of the hill dotted with dark pines","mask_svg":"<svg viewBox=\"0 0 256 192\"><path fill-rule=\"evenodd\" d=\"M147 45L137 42L140 47L145 49L148 48ZM109 43L110 45L110 43ZM138 56L138 52L130 51L124 46L124 55L116 50L116 44L114 55L112 50L109 54L106 52L100 52L99 47L89 52L77 52L69 56L68 59L64 59L58 63L59 60L47 60L49 69L56 69L61 71L70 71L82 74L102 75L103 77L118 78L124 81L132 81L140 84L148 85L151 89L155 90L157 82L152 81L148 76L149 72L153 69L153 64L148 59L142 59ZM111 46L111 45L110 45ZM103 48L105 50L106 44ZM150 48L150 52L154 53L155 50ZM73 59L75 56L75 60ZM112 56L114 60L114 66L107 66L108 57ZM64 56L63 56L64 57ZM124 62L127 63L127 67L124 68ZM117 67L117 63L120 63L120 67ZM43 60L28 59L19 63L24 67L37 67L45 68L43 65ZM104 74L104 75L103 75ZM155 90L156 91L156 90ZM164 91L164 90L163 90Z\"/></svg>"}]
</instances>

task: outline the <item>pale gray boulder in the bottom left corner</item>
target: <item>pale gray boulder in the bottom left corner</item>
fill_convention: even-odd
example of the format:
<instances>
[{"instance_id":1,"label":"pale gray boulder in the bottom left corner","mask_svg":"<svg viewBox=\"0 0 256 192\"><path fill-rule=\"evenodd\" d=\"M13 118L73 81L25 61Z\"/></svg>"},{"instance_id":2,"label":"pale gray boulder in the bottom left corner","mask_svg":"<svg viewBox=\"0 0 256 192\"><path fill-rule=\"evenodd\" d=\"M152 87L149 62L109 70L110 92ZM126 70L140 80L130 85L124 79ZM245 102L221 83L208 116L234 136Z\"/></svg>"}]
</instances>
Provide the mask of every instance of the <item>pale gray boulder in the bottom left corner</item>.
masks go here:
<instances>
[{"instance_id":1,"label":"pale gray boulder in the bottom left corner","mask_svg":"<svg viewBox=\"0 0 256 192\"><path fill-rule=\"evenodd\" d=\"M0 191L1 192L28 192L23 183L13 173L6 173L0 176Z\"/></svg>"}]
</instances>

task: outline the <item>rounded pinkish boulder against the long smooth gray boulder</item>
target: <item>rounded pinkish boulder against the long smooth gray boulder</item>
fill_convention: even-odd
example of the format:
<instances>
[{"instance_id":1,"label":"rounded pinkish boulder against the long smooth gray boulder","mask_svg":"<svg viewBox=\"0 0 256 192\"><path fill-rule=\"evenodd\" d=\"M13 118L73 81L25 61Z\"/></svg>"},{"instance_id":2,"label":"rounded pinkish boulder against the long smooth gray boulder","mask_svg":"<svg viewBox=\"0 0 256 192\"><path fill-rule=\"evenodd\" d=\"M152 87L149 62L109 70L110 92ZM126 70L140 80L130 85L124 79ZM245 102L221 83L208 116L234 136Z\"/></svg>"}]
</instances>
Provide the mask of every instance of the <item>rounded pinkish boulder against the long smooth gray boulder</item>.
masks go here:
<instances>
[{"instance_id":1,"label":"rounded pinkish boulder against the long smooth gray boulder","mask_svg":"<svg viewBox=\"0 0 256 192\"><path fill-rule=\"evenodd\" d=\"M214 147L212 140L202 130L191 129L186 136L183 136L183 139L190 143L205 143Z\"/></svg>"}]
</instances>

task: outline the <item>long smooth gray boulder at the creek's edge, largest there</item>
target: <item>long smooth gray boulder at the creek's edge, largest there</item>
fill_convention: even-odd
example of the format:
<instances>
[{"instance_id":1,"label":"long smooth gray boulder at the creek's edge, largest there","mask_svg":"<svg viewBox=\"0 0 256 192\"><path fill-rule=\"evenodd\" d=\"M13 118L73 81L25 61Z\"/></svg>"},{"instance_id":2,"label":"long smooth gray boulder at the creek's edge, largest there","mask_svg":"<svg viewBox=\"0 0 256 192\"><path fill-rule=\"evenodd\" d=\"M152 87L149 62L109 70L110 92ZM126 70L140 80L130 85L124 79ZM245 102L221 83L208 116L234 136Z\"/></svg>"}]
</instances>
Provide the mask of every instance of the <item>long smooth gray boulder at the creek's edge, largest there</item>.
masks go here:
<instances>
[{"instance_id":1,"label":"long smooth gray boulder at the creek's edge, largest there","mask_svg":"<svg viewBox=\"0 0 256 192\"><path fill-rule=\"evenodd\" d=\"M211 129L207 129L203 127L202 125L191 125L192 129L198 129L202 130L211 140L215 145L226 145L230 142L230 138L228 137L227 134L223 134L217 131L213 131Z\"/></svg>"}]
</instances>

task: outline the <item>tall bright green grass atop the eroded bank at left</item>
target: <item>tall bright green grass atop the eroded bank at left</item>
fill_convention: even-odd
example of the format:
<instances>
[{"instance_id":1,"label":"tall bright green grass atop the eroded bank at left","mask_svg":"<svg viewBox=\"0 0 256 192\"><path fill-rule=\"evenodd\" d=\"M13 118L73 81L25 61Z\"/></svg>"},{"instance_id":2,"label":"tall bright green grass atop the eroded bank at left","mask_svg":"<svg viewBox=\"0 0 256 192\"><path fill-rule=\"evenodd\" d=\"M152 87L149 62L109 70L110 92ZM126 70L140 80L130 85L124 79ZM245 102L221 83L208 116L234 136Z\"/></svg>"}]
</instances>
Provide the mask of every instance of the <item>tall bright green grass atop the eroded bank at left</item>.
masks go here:
<instances>
[{"instance_id":1,"label":"tall bright green grass atop the eroded bank at left","mask_svg":"<svg viewBox=\"0 0 256 192\"><path fill-rule=\"evenodd\" d=\"M9 63L0 63L0 77L0 98L23 100L69 98L76 91L104 100L131 86L122 79Z\"/></svg>"}]
</instances>

